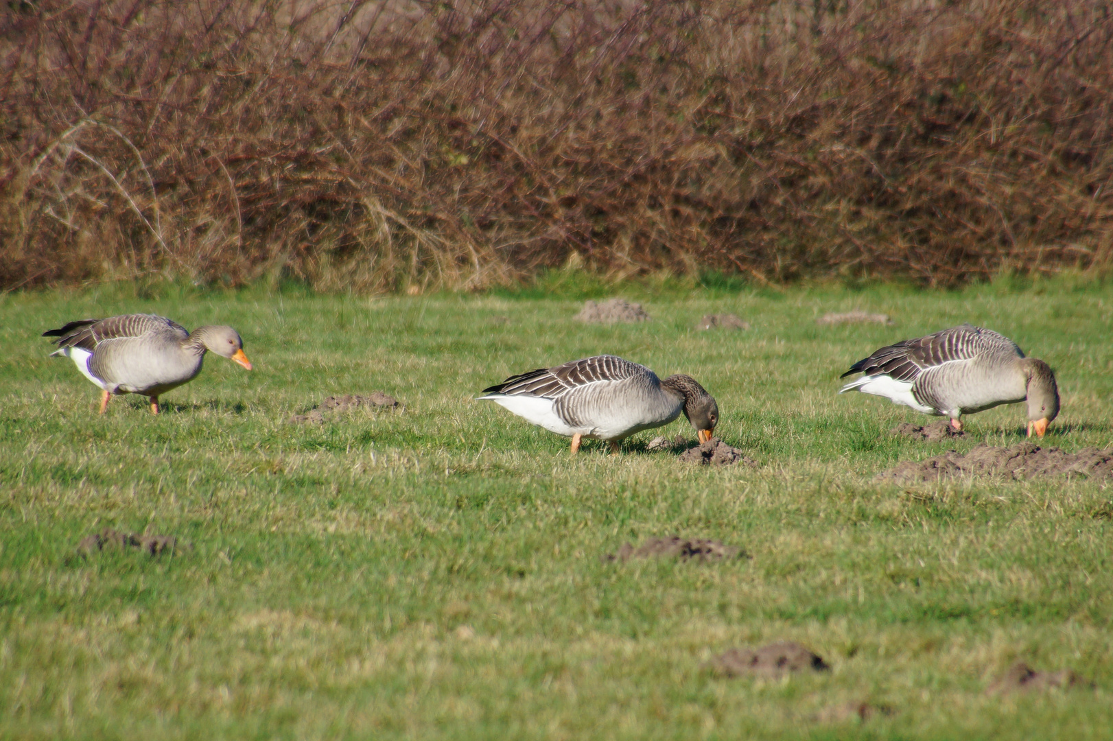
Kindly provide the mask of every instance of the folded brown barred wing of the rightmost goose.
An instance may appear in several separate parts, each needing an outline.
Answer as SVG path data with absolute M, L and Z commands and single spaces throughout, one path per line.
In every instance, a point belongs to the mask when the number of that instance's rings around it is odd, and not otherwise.
M 1024 357 L 1021 348 L 1008 337 L 992 329 L 964 324 L 926 337 L 905 339 L 881 347 L 869 357 L 855 363 L 840 377 L 864 373 L 867 376 L 881 375 L 913 383 L 929 368 L 987 355 Z

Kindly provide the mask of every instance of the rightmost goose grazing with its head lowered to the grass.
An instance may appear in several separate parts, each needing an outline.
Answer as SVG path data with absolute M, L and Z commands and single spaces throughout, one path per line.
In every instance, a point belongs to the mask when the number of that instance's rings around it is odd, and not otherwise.
M 905 339 L 858 360 L 840 377 L 865 375 L 839 393 L 860 391 L 951 417 L 962 431 L 964 414 L 1001 404 L 1028 403 L 1028 437 L 1043 437 L 1058 415 L 1055 374 L 1043 360 L 1025 357 L 1008 337 L 969 324 Z

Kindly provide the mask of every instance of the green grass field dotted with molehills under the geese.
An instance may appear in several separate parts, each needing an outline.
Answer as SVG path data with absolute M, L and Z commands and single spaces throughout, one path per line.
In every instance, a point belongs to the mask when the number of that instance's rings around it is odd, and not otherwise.
M 961 293 L 628 286 L 652 322 L 584 326 L 582 296 L 0 297 L 0 737 L 19 739 L 1100 739 L 1113 728 L 1110 484 L 883 486 L 898 461 L 1023 439 L 1022 406 L 957 443 L 836 395 L 883 344 L 973 322 L 1055 367 L 1045 444 L 1113 444 L 1113 294 L 1067 281 Z M 896 326 L 817 326 L 826 312 Z M 99 389 L 39 335 L 128 312 L 232 324 L 255 364 L 209 356 L 164 398 Z M 697 332 L 731 312 L 748 332 Z M 613 353 L 690 373 L 758 468 L 621 456 L 472 401 L 529 368 Z M 333 394 L 401 413 L 294 425 Z M 680 421 L 664 428 L 695 439 Z M 174 556 L 77 542 L 114 526 Z M 750 560 L 603 563 L 623 542 L 715 537 Z M 720 679 L 715 654 L 799 641 L 831 665 Z M 1017 659 L 1095 683 L 987 695 Z M 850 701 L 893 709 L 824 721 Z

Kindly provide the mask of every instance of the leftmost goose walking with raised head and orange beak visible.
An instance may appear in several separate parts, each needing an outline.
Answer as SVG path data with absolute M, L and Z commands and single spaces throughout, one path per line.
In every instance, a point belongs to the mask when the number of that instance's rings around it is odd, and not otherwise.
M 42 333 L 57 337 L 51 357 L 65 356 L 101 388 L 100 414 L 114 395 L 142 394 L 158 414 L 158 397 L 201 370 L 205 352 L 252 369 L 244 342 L 232 327 L 185 327 L 152 314 L 126 314 L 107 319 L 80 319 Z

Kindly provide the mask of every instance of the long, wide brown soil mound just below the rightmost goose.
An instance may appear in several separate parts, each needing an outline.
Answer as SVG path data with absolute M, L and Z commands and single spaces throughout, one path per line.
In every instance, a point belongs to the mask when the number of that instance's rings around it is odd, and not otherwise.
M 1113 452 L 1087 447 L 1064 453 L 1057 447 L 1018 443 L 1011 447 L 978 445 L 966 455 L 947 451 L 926 461 L 905 461 L 883 473 L 877 481 L 899 484 L 934 482 L 947 476 L 1006 476 L 1014 480 L 1066 474 L 1104 478 L 1113 474 Z

